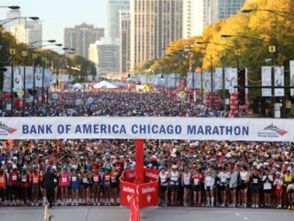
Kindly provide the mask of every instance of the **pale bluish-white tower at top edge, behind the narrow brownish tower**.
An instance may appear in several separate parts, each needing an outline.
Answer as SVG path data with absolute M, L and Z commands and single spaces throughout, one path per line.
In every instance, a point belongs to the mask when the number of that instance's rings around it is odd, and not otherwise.
M 129 10 L 129 0 L 108 0 L 107 23 L 108 36 L 110 38 L 120 37 L 120 10 Z

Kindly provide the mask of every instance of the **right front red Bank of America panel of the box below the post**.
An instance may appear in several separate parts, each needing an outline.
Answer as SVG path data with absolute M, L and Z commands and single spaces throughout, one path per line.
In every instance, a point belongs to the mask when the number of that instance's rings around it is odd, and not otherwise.
M 138 186 L 139 208 L 156 206 L 159 201 L 159 183 L 144 183 Z

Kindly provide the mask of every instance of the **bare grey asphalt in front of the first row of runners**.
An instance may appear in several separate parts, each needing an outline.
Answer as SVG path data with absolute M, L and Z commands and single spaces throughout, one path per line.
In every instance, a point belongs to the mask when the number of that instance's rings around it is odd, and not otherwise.
M 42 221 L 43 207 L 0 208 L 1 221 Z M 54 207 L 49 210 L 52 221 L 128 221 L 127 207 Z M 290 221 L 294 210 L 151 207 L 141 210 L 141 221 Z

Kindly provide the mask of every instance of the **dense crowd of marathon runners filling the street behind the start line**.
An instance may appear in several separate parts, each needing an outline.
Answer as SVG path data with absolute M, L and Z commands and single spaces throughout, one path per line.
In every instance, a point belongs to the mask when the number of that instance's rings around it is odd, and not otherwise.
M 26 116 L 227 117 L 151 93 L 69 93 L 27 108 Z M 77 101 L 79 100 L 79 101 Z M 21 110 L 19 110 L 21 112 Z M 0 205 L 120 205 L 120 175 L 135 168 L 133 140 L 1 141 Z M 254 141 L 145 140 L 144 166 L 159 171 L 159 205 L 294 210 L 294 144 Z

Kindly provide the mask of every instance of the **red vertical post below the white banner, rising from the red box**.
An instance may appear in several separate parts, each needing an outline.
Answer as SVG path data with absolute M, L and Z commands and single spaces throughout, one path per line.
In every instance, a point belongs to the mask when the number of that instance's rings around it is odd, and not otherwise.
M 143 184 L 143 139 L 135 140 L 135 183 L 137 185 Z

